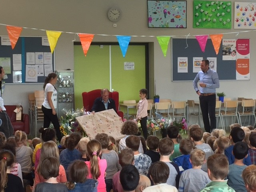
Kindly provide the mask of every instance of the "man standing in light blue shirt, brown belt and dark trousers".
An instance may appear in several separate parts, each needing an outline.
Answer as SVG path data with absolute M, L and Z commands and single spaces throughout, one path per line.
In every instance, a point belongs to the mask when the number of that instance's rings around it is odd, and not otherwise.
M 216 88 L 220 87 L 220 83 L 217 72 L 209 68 L 209 60 L 203 59 L 200 62 L 200 67 L 202 71 L 198 72 L 194 78 L 193 86 L 194 90 L 199 95 L 204 129 L 206 132 L 210 133 L 213 129 L 216 129 Z M 199 89 L 197 86 L 198 81 L 200 81 Z

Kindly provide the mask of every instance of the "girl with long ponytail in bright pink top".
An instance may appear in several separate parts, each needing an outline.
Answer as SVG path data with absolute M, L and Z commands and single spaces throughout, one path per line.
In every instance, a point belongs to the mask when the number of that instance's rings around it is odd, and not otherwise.
M 102 152 L 100 142 L 95 139 L 90 140 L 87 144 L 87 152 L 90 156 L 90 161 L 85 162 L 89 172 L 87 178 L 98 180 L 98 192 L 106 192 L 105 172 L 107 161 L 99 158 Z

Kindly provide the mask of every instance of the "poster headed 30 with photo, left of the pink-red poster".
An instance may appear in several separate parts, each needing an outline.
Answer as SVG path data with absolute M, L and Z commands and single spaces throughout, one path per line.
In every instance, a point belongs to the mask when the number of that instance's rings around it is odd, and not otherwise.
M 236 39 L 222 39 L 222 60 L 236 60 Z

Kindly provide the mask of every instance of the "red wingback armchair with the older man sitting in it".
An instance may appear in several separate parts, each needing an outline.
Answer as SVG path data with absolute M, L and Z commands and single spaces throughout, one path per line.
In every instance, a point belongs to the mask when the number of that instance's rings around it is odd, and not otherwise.
M 92 109 L 94 100 L 97 97 L 101 97 L 100 89 L 92 90 L 90 92 L 82 92 L 84 109 L 86 111 L 90 111 Z M 109 92 L 109 98 L 112 98 L 115 101 L 117 114 L 123 119 L 124 113 L 122 111 L 119 111 L 119 93 L 117 91 Z

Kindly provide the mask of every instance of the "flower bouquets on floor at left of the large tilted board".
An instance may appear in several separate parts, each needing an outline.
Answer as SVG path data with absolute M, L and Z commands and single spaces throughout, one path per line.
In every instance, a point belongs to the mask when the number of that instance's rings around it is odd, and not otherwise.
M 61 116 L 60 118 L 60 132 L 62 135 L 67 135 L 73 132 L 80 133 L 83 137 L 86 136 L 84 130 L 78 125 L 76 117 L 86 115 L 84 110 L 77 109 L 76 111 L 72 110 L 62 110 L 65 113 L 65 117 Z

